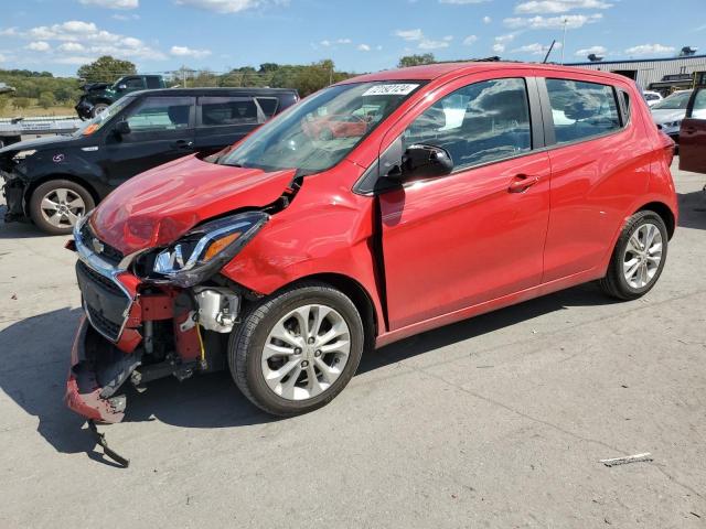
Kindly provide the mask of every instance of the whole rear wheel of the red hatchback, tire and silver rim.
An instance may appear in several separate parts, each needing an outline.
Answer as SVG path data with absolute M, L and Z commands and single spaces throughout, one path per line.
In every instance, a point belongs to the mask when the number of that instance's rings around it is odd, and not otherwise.
M 620 300 L 646 294 L 657 282 L 667 251 L 667 231 L 654 212 L 635 213 L 623 228 L 613 250 L 602 290 Z

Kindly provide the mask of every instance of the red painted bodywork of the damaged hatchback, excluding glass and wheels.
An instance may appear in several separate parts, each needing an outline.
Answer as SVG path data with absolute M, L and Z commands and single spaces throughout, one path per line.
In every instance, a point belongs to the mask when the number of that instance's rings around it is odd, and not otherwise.
M 552 144 L 377 196 L 353 192 L 421 111 L 462 86 L 499 77 L 612 85 L 629 94 L 631 118 L 620 131 L 574 144 Z M 671 230 L 676 225 L 673 145 L 650 125 L 630 80 L 556 66 L 470 63 L 382 72 L 343 84 L 425 79 L 343 161 L 304 176 L 291 203 L 221 273 L 260 295 L 311 277 L 352 282 L 371 302 L 375 343 L 382 346 L 603 277 L 625 220 L 646 205 L 665 215 Z M 274 203 L 295 176 L 295 170 L 265 173 L 188 156 L 120 186 L 98 206 L 92 226 L 124 253 L 163 246 L 214 216 Z M 509 192 L 522 179 L 533 185 Z M 139 280 L 120 281 L 136 292 L 139 311 L 127 328 L 138 333 L 139 320 L 149 320 Z M 132 350 L 139 333 L 126 339 L 118 346 Z M 68 400 L 90 417 L 76 397 Z

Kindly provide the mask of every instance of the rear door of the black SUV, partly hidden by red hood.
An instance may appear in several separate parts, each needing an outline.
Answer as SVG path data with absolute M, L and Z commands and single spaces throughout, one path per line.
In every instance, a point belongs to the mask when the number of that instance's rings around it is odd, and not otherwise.
M 204 153 L 220 151 L 242 140 L 265 120 L 265 114 L 253 97 L 199 97 L 195 148 Z

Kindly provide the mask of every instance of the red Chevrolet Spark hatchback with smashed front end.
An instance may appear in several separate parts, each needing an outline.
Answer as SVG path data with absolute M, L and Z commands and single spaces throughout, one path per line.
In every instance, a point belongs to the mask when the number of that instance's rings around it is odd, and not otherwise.
M 311 133 L 327 117 L 363 125 Z M 339 83 L 82 219 L 68 406 L 116 422 L 126 386 L 229 369 L 291 415 L 406 336 L 592 280 L 639 298 L 676 226 L 672 155 L 635 85 L 602 72 L 464 63 Z

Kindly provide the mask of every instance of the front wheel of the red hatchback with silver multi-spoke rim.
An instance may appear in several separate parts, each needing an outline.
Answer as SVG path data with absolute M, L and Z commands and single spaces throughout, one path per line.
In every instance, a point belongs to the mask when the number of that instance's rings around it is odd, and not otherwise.
M 252 307 L 231 335 L 235 384 L 256 406 L 281 417 L 330 402 L 363 354 L 364 330 L 353 302 L 324 283 L 302 283 Z

